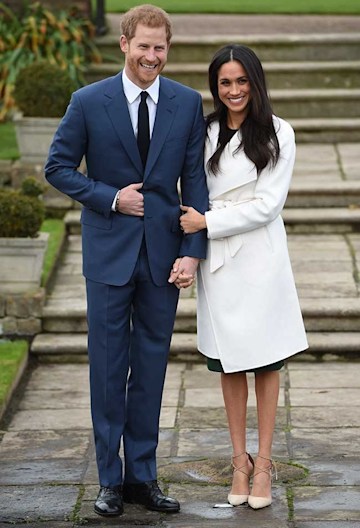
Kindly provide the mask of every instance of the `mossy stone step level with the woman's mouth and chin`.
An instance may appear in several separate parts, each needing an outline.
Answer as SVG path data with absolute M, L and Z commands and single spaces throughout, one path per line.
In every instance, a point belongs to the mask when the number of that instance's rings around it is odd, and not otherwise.
M 205 113 L 213 109 L 208 90 L 200 91 Z M 284 119 L 359 118 L 359 89 L 270 90 L 275 114 Z

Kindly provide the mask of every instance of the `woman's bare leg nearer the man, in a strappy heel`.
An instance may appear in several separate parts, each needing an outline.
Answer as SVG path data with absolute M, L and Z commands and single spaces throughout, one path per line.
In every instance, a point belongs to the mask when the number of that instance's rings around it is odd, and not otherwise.
M 249 478 L 253 466 L 246 454 L 246 406 L 248 385 L 246 374 L 221 374 L 221 385 L 233 447 L 234 471 L 230 495 L 249 495 Z M 240 502 L 241 503 L 241 502 Z

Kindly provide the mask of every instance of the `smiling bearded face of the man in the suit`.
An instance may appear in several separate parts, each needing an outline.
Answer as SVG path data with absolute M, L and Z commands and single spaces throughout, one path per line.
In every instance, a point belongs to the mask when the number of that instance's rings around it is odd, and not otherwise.
M 145 90 L 154 82 L 167 61 L 169 44 L 165 26 L 151 28 L 138 24 L 130 41 L 121 35 L 120 48 L 125 54 L 126 75 Z

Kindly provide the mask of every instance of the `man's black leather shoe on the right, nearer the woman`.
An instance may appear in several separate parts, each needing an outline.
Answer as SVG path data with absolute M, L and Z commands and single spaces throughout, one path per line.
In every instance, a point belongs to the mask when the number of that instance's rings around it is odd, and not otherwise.
M 143 504 L 148 510 L 164 513 L 176 513 L 180 504 L 171 497 L 166 497 L 156 480 L 141 482 L 140 484 L 124 484 L 124 502 Z

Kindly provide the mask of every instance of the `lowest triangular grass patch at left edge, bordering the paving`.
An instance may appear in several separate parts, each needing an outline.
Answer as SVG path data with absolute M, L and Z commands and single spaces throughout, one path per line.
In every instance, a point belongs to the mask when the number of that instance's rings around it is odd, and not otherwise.
M 0 408 L 6 401 L 28 348 L 26 341 L 0 341 Z

